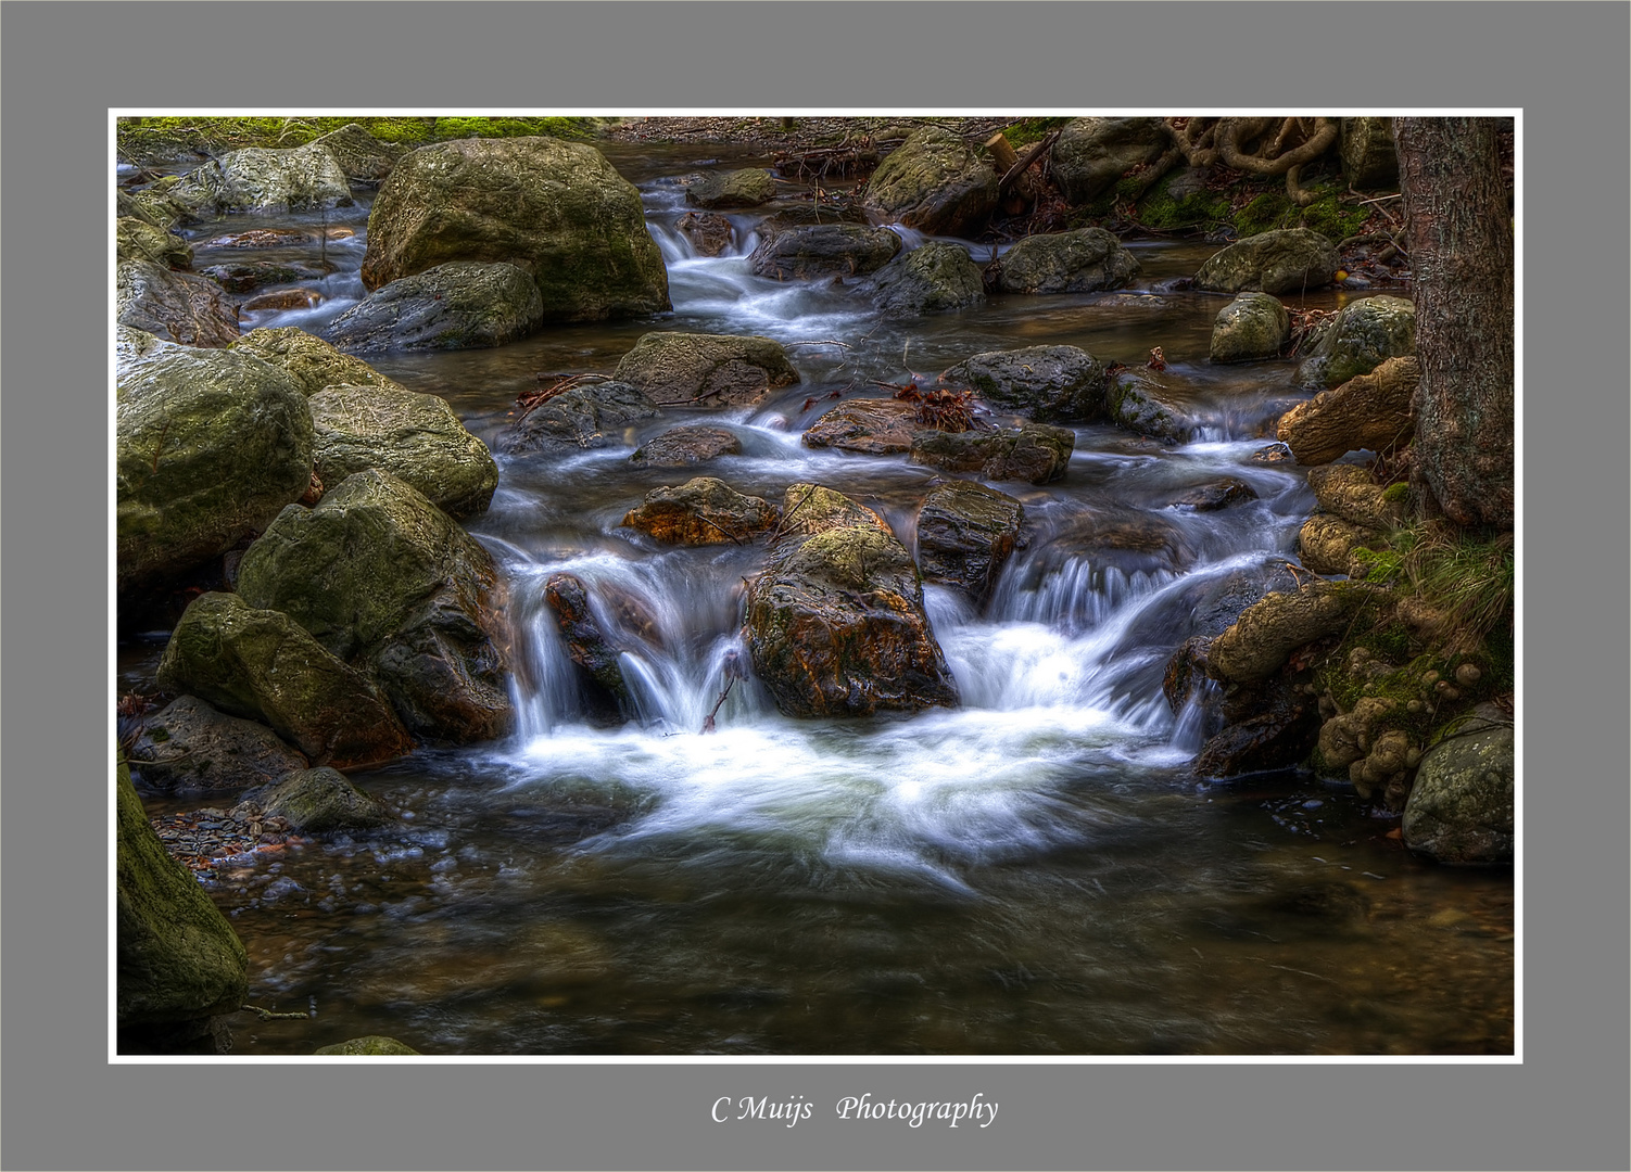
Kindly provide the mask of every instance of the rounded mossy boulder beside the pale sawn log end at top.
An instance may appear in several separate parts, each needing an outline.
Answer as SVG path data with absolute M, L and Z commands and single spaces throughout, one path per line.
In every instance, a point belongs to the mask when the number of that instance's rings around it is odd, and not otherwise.
M 931 236 L 972 236 L 997 207 L 997 179 L 990 161 L 959 135 L 925 126 L 877 165 L 863 207 Z

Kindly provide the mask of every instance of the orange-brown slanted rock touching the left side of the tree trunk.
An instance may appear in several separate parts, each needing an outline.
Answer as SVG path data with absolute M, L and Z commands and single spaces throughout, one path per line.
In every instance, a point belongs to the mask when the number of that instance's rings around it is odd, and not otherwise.
M 1421 381 L 1416 359 L 1388 359 L 1284 416 L 1277 435 L 1298 463 L 1326 465 L 1349 452 L 1388 452 L 1416 434 L 1411 401 Z

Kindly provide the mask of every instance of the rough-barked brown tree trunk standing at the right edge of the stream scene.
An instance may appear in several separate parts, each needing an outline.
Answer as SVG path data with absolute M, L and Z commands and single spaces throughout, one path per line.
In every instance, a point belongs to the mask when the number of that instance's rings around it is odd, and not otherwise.
M 1491 117 L 1395 119 L 1421 360 L 1412 481 L 1456 525 L 1510 530 L 1514 241 L 1499 129 Z

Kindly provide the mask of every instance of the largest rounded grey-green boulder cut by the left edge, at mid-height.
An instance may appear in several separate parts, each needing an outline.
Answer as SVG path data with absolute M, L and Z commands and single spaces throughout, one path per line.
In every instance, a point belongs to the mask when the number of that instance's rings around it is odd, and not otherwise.
M 312 412 L 246 354 L 155 347 L 116 411 L 117 588 L 157 585 L 261 531 L 312 482 Z

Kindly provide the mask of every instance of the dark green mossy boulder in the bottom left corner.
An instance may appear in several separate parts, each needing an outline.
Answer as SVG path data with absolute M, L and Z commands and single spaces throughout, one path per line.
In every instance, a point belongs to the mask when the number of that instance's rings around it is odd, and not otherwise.
M 121 1029 L 233 1014 L 250 955 L 192 874 L 170 857 L 121 761 L 114 779 L 114 1004 Z

